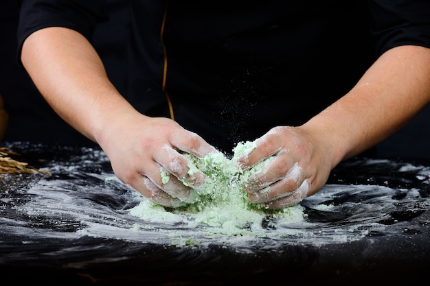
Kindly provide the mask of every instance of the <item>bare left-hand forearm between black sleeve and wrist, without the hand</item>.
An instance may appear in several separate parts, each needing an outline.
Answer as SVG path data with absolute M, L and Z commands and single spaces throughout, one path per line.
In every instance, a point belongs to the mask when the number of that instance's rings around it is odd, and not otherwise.
M 106 124 L 134 111 L 107 78 L 91 44 L 71 29 L 34 32 L 23 44 L 21 59 L 58 115 L 93 141 Z

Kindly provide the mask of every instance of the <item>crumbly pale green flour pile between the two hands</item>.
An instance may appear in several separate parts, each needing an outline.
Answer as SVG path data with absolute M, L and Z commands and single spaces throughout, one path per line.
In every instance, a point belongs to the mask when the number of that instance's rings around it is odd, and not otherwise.
M 255 143 L 238 143 L 231 159 L 222 153 L 210 154 L 205 158 L 184 154 L 209 178 L 203 186 L 194 189 L 194 203 L 180 208 L 166 208 L 144 198 L 131 209 L 131 215 L 148 222 L 183 223 L 190 228 L 204 227 L 208 235 L 227 237 L 264 237 L 265 231 L 274 228 L 275 222 L 302 222 L 305 215 L 299 204 L 281 210 L 269 210 L 264 204 L 254 204 L 247 199 L 247 193 L 241 186 L 249 176 L 260 171 L 271 160 L 267 158 L 253 168 L 242 171 L 238 167 L 237 158 L 248 154 L 254 147 Z M 190 168 L 190 172 L 193 171 Z M 183 183 L 187 184 L 185 181 Z M 185 244 L 190 241 L 192 239 L 188 239 Z

